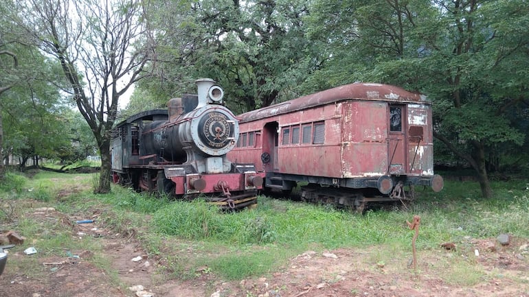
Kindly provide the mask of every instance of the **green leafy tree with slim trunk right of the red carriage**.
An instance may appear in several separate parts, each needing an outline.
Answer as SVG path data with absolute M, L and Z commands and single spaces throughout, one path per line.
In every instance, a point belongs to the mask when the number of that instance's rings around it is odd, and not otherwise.
M 528 79 L 528 5 L 434 2 L 346 1 L 326 12 L 314 9 L 309 31 L 323 32 L 326 25 L 319 24 L 330 23 L 331 34 L 315 34 L 330 58 L 312 80 L 337 73 L 331 84 L 340 78 L 385 82 L 429 95 L 434 135 L 475 169 L 482 195 L 491 197 L 488 150 L 524 138 L 510 111 L 527 97 L 521 80 Z M 352 54 L 341 50 L 346 47 Z

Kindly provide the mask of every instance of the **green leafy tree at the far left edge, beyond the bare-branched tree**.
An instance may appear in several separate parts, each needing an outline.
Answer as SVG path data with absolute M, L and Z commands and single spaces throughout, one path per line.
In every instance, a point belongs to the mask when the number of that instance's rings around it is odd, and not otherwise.
M 2 154 L 14 153 L 24 160 L 53 155 L 63 143 L 59 131 L 64 130 L 56 120 L 65 103 L 57 88 L 62 83 L 56 75 L 58 64 L 43 56 L 21 32 L 14 3 L 3 1 L 0 11 L 6 16 L 0 21 Z M 1 160 L 3 167 L 3 156 Z

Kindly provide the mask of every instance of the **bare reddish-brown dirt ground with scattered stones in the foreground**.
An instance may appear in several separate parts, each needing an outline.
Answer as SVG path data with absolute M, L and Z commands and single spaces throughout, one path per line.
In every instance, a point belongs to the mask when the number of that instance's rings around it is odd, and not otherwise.
M 34 219 L 60 218 L 71 224 L 82 217 L 67 216 L 54 209 L 34 209 L 27 213 Z M 418 252 L 418 268 L 407 268 L 408 259 L 386 263 L 368 261 L 372 249 L 306 251 L 290 259 L 284 268 L 260 278 L 223 281 L 207 267 L 188 281 L 164 281 L 159 259 L 151 259 L 139 248 L 134 236 L 123 236 L 98 224 L 71 224 L 71 235 L 91 237 L 104 246 L 104 259 L 116 274 L 106 274 L 98 267 L 90 250 L 71 250 L 65 257 L 27 255 L 23 248 L 12 248 L 8 264 L 0 276 L 0 296 L 29 297 L 315 297 L 315 296 L 505 296 L 529 297 L 529 248 L 526 241 L 512 239 L 500 246 L 496 239 L 473 240 L 469 244 L 482 251 L 476 257 L 476 269 L 486 277 L 477 285 L 449 285 L 437 269 L 451 257 L 462 257 L 458 250 Z M 31 239 L 28 239 L 32 242 Z M 491 250 L 491 245 L 494 250 Z M 26 247 L 27 244 L 24 245 Z M 71 257 L 69 257 L 71 256 Z M 41 271 L 15 274 L 12 268 L 23 258 L 33 257 Z M 134 258 L 137 258 L 133 261 Z M 100 259 L 100 258 L 99 258 Z M 443 268 L 447 271 L 447 268 Z M 120 286 L 120 283 L 126 284 Z M 141 285 L 141 287 L 132 287 Z M 131 288 L 128 288 L 131 287 Z

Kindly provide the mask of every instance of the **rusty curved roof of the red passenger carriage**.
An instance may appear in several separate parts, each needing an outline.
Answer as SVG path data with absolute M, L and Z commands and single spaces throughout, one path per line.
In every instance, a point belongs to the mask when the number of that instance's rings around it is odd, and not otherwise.
M 389 84 L 354 83 L 329 88 L 325 91 L 245 112 L 242 115 L 239 115 L 238 119 L 244 123 L 344 100 L 431 104 L 425 95 L 418 92 L 406 91 L 399 86 L 392 86 Z

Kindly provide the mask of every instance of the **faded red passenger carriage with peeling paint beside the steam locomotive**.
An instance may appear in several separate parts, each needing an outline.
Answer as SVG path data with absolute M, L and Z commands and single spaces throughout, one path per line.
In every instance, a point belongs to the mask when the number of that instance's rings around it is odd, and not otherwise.
M 261 163 L 265 189 L 362 210 L 443 187 L 434 174 L 431 103 L 385 84 L 355 83 L 239 115 L 236 163 Z

